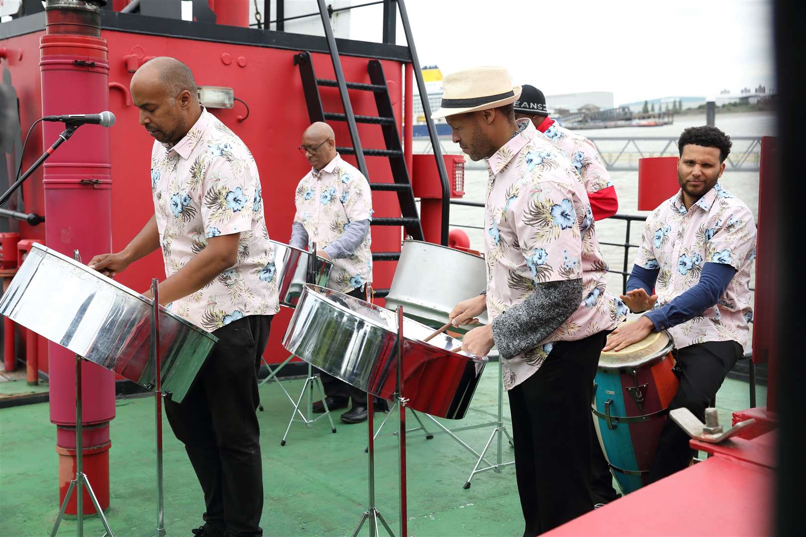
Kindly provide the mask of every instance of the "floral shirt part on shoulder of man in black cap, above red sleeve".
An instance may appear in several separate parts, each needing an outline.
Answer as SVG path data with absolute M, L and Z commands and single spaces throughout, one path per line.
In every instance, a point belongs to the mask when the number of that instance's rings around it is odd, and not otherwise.
M 545 130 L 542 130 L 544 126 Z M 596 151 L 596 146 L 588 138 L 559 126 L 551 118 L 546 118 L 538 130 L 542 130 L 543 136 L 549 138 L 571 160 L 571 164 L 582 176 L 585 190 L 589 194 L 613 186 L 610 174 L 599 158 L 599 151 Z

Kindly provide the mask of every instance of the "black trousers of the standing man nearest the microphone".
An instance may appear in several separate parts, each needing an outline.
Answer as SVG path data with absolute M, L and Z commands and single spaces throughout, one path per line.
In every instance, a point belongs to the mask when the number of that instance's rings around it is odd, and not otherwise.
M 182 403 L 165 401 L 173 433 L 202 485 L 206 527 L 223 535 L 263 535 L 263 472 L 257 370 L 272 316 L 247 316 L 218 337 Z

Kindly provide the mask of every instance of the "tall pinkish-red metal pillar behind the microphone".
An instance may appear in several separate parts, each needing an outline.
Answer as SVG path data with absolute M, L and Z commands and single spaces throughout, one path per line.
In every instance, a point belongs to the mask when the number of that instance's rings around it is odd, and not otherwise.
M 42 114 L 93 114 L 109 108 L 109 61 L 101 37 L 99 0 L 48 0 L 46 32 L 39 41 L 42 73 Z M 44 147 L 64 130 L 60 123 L 43 124 Z M 81 126 L 44 164 L 45 240 L 73 257 L 79 250 L 88 262 L 112 249 L 109 130 Z M 43 305 L 46 307 L 45 305 Z M 48 344 L 50 417 L 56 423 L 59 457 L 59 504 L 76 476 L 75 357 Z M 114 374 L 92 363 L 81 365 L 83 391 L 84 472 L 102 509 L 109 506 L 109 422 L 114 418 Z M 95 508 L 85 489 L 84 512 Z M 76 514 L 76 497 L 67 513 Z

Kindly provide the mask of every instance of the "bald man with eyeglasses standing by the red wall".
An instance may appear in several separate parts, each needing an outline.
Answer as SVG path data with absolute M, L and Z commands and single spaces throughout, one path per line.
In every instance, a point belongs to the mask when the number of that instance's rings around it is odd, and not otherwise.
M 297 214 L 289 244 L 306 250 L 316 242 L 318 254 L 333 262 L 329 287 L 366 299 L 367 286 L 372 283 L 369 183 L 360 171 L 342 160 L 336 151 L 333 129 L 327 123 L 315 122 L 305 129 L 299 150 L 311 169 L 297 185 Z M 368 415 L 367 394 L 324 371 L 320 374 L 328 410 L 346 408 L 352 399 L 351 410 L 341 416 L 342 421 L 364 422 Z M 376 411 L 384 407 L 380 400 L 378 403 Z M 324 412 L 322 401 L 314 403 L 313 410 Z

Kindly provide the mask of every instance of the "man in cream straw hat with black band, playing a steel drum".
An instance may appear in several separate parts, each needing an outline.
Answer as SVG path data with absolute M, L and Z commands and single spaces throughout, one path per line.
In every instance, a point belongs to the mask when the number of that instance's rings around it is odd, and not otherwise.
M 605 337 L 626 316 L 607 292 L 607 265 L 578 171 L 526 119 L 504 68 L 445 77 L 453 141 L 488 166 L 484 207 L 487 289 L 456 305 L 454 324 L 484 310 L 463 350 L 501 354 L 526 527 L 538 535 L 592 510 L 591 392 Z

